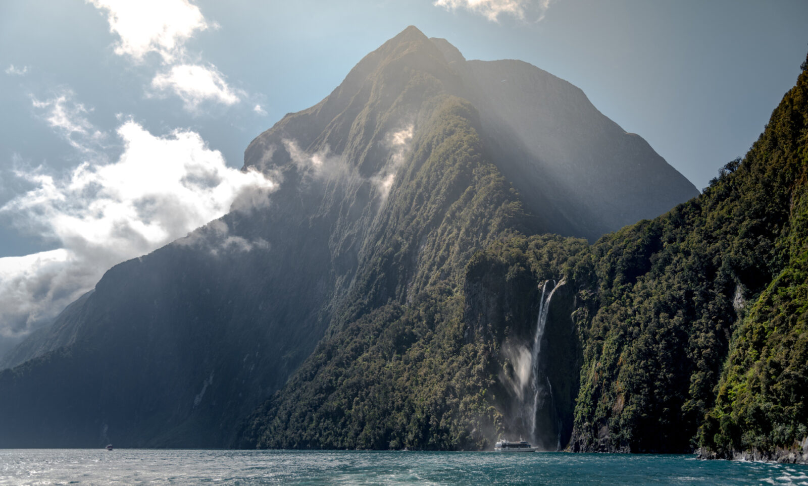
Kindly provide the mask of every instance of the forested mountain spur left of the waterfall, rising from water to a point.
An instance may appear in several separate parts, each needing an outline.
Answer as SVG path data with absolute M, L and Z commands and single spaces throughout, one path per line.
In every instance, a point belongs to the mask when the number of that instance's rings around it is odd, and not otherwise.
M 495 323 L 496 336 L 469 338 L 475 330 L 468 329 L 466 300 L 485 298 L 469 295 L 473 283 L 503 261 L 499 281 L 511 283 L 513 295 L 532 289 L 535 297 L 539 262 L 547 264 L 541 277 L 549 279 L 570 250 L 553 243 L 561 238 L 536 237 L 531 257 L 526 248 L 503 254 L 495 242 L 536 218 L 524 213 L 486 160 L 477 125 L 468 103 L 448 98 L 439 105 L 391 189 L 389 220 L 372 239 L 378 244 L 355 287 L 364 298 L 348 300 L 346 316 L 335 321 L 345 324 L 335 324 L 287 385 L 250 417 L 242 445 L 480 449 L 503 429 L 493 406 L 505 395 L 494 337 L 510 333 L 514 322 Z M 534 303 L 513 309 L 519 315 L 511 320 L 528 324 Z

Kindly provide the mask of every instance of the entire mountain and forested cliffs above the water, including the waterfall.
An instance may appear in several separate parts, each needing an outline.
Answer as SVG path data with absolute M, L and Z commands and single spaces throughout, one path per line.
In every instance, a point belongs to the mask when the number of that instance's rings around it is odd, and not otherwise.
M 250 144 L 276 191 L 10 354 L 0 446 L 803 460 L 806 78 L 698 195 L 569 83 L 408 27 Z

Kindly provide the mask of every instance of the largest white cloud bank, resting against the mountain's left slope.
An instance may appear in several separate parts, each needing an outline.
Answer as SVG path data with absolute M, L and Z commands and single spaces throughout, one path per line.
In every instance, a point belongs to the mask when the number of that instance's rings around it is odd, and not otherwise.
M 90 290 L 109 267 L 185 236 L 240 198 L 266 203 L 275 187 L 254 170 L 229 168 L 196 132 L 154 136 L 129 120 L 117 134 L 124 143 L 117 161 L 86 161 L 61 179 L 41 170 L 16 173 L 35 187 L 0 212 L 61 248 L 0 258 L 0 336 L 30 332 Z M 262 245 L 223 238 L 222 249 Z

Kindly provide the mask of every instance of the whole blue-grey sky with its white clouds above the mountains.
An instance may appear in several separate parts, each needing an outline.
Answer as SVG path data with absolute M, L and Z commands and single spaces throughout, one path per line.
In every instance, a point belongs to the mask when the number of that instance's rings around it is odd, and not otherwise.
M 696 187 L 808 51 L 808 2 L 4 0 L 0 353 L 103 272 L 276 182 L 244 149 L 408 25 L 579 86 Z

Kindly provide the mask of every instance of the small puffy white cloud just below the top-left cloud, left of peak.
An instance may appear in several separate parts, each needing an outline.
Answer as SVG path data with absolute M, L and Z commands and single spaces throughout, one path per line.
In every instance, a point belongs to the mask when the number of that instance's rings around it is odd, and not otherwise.
M 238 103 L 238 90 L 233 90 L 214 67 L 175 65 L 166 73 L 158 73 L 152 80 L 157 90 L 172 90 L 185 102 L 188 111 L 196 111 L 200 103 L 215 101 L 225 105 Z

